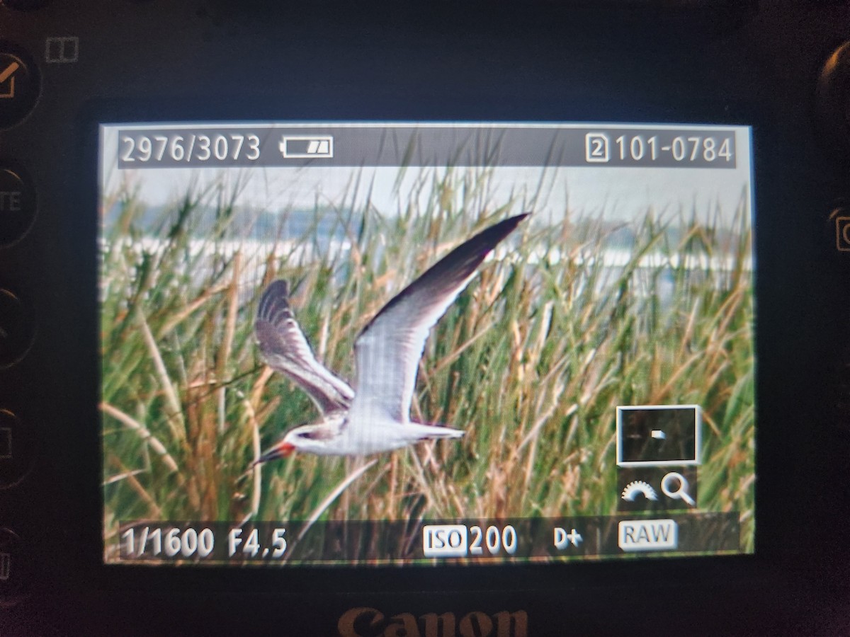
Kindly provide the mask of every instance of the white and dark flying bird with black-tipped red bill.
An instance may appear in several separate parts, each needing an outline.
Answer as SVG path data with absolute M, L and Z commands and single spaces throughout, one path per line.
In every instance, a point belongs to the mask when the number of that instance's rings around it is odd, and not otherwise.
M 463 431 L 411 420 L 416 374 L 428 334 L 475 276 L 479 265 L 528 213 L 484 229 L 450 251 L 394 296 L 354 341 L 354 388 L 314 356 L 289 305 L 289 287 L 263 291 L 254 324 L 263 361 L 307 392 L 321 417 L 297 426 L 254 465 L 300 451 L 365 456 L 423 440 L 460 438 Z

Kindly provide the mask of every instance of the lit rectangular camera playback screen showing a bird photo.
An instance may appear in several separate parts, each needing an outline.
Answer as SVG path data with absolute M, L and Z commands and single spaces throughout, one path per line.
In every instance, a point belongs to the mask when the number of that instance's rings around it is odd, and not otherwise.
M 99 129 L 104 561 L 751 553 L 751 129 Z

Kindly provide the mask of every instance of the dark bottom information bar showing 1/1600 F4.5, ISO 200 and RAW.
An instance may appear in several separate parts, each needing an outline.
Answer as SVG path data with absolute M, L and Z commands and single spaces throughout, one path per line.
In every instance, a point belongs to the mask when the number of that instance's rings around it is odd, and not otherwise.
M 740 550 L 737 512 L 505 520 L 123 522 L 121 561 L 193 564 L 392 563 L 428 559 L 506 561 Z

